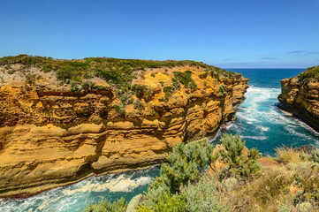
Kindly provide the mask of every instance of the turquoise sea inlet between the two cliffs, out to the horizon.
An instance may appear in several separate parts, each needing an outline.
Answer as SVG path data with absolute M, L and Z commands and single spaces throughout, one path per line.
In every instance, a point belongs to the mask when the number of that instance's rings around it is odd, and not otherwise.
M 239 105 L 237 120 L 221 132 L 216 141 L 224 133 L 239 133 L 246 140 L 247 148 L 258 148 L 263 155 L 273 155 L 275 148 L 283 145 L 300 147 L 313 145 L 319 147 L 319 133 L 292 117 L 291 114 L 279 110 L 277 96 L 281 92 L 280 79 L 298 75 L 303 69 L 232 69 L 240 72 L 249 80 L 246 100 Z

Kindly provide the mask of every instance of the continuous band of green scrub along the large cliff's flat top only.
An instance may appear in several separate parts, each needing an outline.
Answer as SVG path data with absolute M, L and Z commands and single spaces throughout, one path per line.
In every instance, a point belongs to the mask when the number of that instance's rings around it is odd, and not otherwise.
M 134 76 L 134 71 L 148 68 L 196 66 L 207 69 L 207 72 L 224 74 L 232 77 L 232 72 L 226 72 L 212 65 L 203 64 L 190 60 L 139 60 L 139 59 L 118 59 L 110 57 L 87 57 L 80 60 L 53 59 L 51 57 L 32 57 L 19 55 L 15 57 L 0 58 L 0 65 L 10 66 L 11 64 L 24 64 L 41 68 L 42 72 L 56 72 L 57 79 L 81 81 L 94 76 L 101 77 L 113 86 L 123 87 L 129 84 Z

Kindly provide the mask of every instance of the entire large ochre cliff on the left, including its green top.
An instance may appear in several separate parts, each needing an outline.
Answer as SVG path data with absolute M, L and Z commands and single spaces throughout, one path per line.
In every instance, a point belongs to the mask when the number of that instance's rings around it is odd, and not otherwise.
M 232 120 L 248 79 L 194 61 L 0 58 L 0 196 L 161 163 Z

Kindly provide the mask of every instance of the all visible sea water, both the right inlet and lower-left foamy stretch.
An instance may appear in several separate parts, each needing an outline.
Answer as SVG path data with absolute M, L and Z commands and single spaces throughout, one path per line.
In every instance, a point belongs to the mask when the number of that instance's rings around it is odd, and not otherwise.
M 273 155 L 274 149 L 313 145 L 319 147 L 316 133 L 300 119 L 277 108 L 280 79 L 298 75 L 303 69 L 229 69 L 242 73 L 249 80 L 246 100 L 239 105 L 236 121 L 227 131 L 218 133 L 212 142 L 218 142 L 224 133 L 239 133 L 247 148 L 258 148 L 263 155 Z M 0 200 L 0 211 L 78 211 L 89 202 L 124 196 L 130 201 L 134 195 L 147 190 L 152 178 L 159 175 L 158 167 L 127 171 L 102 177 L 90 177 L 71 186 L 59 187 L 23 200 Z

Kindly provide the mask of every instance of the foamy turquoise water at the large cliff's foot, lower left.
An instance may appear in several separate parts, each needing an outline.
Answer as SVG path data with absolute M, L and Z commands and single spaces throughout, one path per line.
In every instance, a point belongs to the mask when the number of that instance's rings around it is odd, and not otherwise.
M 121 196 L 131 200 L 143 193 L 152 178 L 159 176 L 158 167 L 146 170 L 126 171 L 101 177 L 90 177 L 71 186 L 59 187 L 22 200 L 0 200 L 2 212 L 34 211 L 78 211 L 92 202 L 108 199 L 114 201 Z

